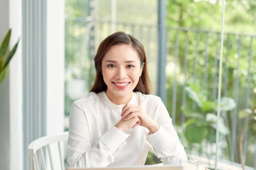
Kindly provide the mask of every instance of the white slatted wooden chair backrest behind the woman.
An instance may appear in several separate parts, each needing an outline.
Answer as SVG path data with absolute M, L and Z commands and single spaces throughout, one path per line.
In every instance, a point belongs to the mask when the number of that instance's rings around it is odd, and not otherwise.
M 61 150 L 61 142 L 67 141 L 68 139 L 68 132 L 55 135 L 55 136 L 43 136 L 40 137 L 34 141 L 32 141 L 28 145 L 28 154 L 31 159 L 31 170 L 39 170 L 39 165 L 41 165 L 42 170 L 46 170 L 46 153 L 43 153 L 43 148 L 45 148 L 45 151 L 48 153 L 49 160 L 50 160 L 50 166 L 51 169 L 54 169 L 53 165 L 53 160 L 55 159 L 52 154 L 52 149 L 51 149 L 51 144 L 58 144 L 58 147 L 56 145 L 57 150 L 59 151 L 59 161 L 60 161 L 60 167 L 61 170 L 64 170 L 64 159 L 63 159 L 63 154 Z M 51 146 L 50 146 L 51 145 Z M 55 148 L 54 148 L 55 149 Z M 38 153 L 40 157 L 40 164 L 39 164 L 39 159 L 38 159 Z

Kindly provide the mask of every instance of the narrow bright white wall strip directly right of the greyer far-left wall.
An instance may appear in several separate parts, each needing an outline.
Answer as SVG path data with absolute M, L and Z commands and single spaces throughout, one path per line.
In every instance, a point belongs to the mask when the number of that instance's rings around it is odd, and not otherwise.
M 21 0 L 9 0 L 9 27 L 12 28 L 10 46 L 20 38 L 15 56 L 10 62 L 10 170 L 23 167 L 22 129 L 22 36 Z

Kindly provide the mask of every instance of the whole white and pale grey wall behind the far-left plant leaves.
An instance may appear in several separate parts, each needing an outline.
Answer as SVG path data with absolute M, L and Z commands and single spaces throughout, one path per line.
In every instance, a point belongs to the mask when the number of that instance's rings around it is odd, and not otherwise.
M 12 28 L 10 47 L 21 34 L 21 0 L 0 0 L 0 40 Z M 22 103 L 20 46 L 0 84 L 0 170 L 22 168 Z

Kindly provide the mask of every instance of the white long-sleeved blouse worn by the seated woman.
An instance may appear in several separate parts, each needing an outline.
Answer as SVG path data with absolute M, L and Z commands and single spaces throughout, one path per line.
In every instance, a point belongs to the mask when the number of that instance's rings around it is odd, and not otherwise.
M 112 103 L 104 91 L 90 92 L 70 109 L 67 162 L 71 167 L 144 165 L 149 147 L 164 164 L 178 164 L 186 157 L 183 145 L 161 99 L 133 92 L 129 103 L 140 105 L 160 128 L 136 126 L 125 133 L 115 125 L 121 119 L 122 105 Z

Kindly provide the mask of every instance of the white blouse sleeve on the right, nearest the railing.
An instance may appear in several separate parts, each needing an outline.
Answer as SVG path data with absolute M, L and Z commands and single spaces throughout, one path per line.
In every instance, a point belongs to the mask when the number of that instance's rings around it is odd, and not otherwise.
M 160 125 L 157 132 L 146 135 L 155 154 L 164 164 L 178 164 L 180 158 L 186 159 L 183 145 L 180 143 L 167 109 L 163 102 L 158 100 L 156 122 Z

